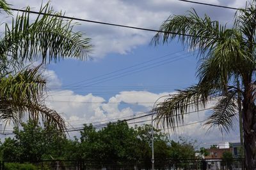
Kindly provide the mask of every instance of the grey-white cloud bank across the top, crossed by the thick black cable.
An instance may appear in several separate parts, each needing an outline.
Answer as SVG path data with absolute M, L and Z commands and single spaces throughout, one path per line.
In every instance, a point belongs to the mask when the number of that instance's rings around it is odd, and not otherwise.
M 43 1 L 46 3 L 47 1 Z M 211 0 L 207 3 L 244 7 L 245 0 L 230 1 Z M 41 1 L 9 1 L 14 8 L 31 6 L 32 10 L 38 10 Z M 181 1 L 150 0 L 150 1 L 92 1 L 77 0 L 76 3 L 67 0 L 55 0 L 51 2 L 54 10 L 65 11 L 70 17 L 111 22 L 115 24 L 132 25 L 149 29 L 159 29 L 159 25 L 169 15 L 184 15 L 186 11 L 195 8 L 199 15 L 209 14 L 213 19 L 232 23 L 234 10 L 216 8 L 200 4 L 185 3 Z M 95 59 L 104 57 L 108 53 L 125 54 L 140 45 L 147 45 L 154 35 L 152 32 L 132 30 L 109 25 L 79 22 L 77 30 L 86 32 L 92 38 L 95 45 Z

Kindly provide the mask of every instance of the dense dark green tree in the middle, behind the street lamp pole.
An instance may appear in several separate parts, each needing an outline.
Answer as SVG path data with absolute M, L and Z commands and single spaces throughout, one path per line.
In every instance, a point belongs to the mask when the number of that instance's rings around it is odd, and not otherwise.
M 151 125 L 129 127 L 126 122 L 108 124 L 96 131 L 92 125 L 84 125 L 81 131 L 81 158 L 91 160 L 112 160 L 113 164 L 129 161 L 138 162 L 150 168 L 152 157 Z M 154 152 L 158 163 L 170 158 L 168 136 L 154 129 Z

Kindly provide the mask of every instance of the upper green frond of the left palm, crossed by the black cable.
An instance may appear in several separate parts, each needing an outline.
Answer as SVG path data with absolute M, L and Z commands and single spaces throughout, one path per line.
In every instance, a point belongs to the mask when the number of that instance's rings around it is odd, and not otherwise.
M 92 51 L 90 38 L 84 38 L 81 32 L 73 32 L 74 24 L 54 13 L 49 4 L 41 7 L 40 13 L 31 23 L 29 7 L 22 15 L 13 19 L 12 27 L 6 24 L 4 47 L 1 49 L 5 55 L 12 56 L 13 61 L 20 63 L 42 57 L 42 62 L 55 62 L 65 57 L 86 59 Z M 48 61 L 47 61 L 48 59 Z

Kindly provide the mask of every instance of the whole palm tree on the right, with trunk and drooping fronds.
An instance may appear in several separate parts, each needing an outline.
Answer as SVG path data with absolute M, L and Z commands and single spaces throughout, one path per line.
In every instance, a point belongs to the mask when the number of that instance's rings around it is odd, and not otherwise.
M 170 16 L 152 39 L 157 45 L 178 38 L 190 50 L 198 50 L 200 63 L 196 85 L 178 90 L 153 109 L 161 124 L 175 131 L 191 108 L 199 110 L 217 100 L 205 125 L 228 132 L 236 122 L 237 99 L 241 96 L 247 169 L 256 169 L 255 3 L 253 0 L 245 9 L 237 11 L 231 28 L 212 21 L 207 15 L 199 17 L 195 10 L 185 16 Z

